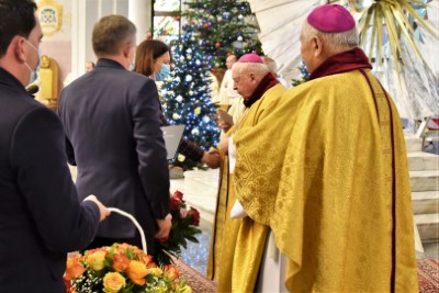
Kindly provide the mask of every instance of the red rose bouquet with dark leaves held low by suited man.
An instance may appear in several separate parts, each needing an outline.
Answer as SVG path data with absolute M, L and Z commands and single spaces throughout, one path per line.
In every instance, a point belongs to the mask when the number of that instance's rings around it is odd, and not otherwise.
M 161 243 L 161 249 L 157 253 L 157 262 L 160 266 L 172 263 L 172 257 L 181 256 L 181 248 L 187 248 L 188 240 L 199 243 L 195 238 L 201 230 L 200 213 L 196 209 L 190 207 L 187 210 L 183 193 L 176 191 L 170 196 L 170 213 L 172 215 L 172 228 L 169 233 L 169 238 Z

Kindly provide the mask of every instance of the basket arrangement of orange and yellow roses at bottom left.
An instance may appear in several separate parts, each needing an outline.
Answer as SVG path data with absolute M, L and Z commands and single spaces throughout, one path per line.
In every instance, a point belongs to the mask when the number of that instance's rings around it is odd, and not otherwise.
M 151 256 L 127 244 L 68 258 L 64 280 L 68 293 L 192 292 L 172 264 L 160 269 Z

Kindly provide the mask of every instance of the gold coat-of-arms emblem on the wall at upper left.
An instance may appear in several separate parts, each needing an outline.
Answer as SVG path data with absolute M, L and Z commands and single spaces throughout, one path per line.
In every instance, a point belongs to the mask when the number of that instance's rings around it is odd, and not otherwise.
M 63 26 L 63 5 L 56 0 L 40 0 L 36 4 L 43 34 L 45 36 L 54 35 Z

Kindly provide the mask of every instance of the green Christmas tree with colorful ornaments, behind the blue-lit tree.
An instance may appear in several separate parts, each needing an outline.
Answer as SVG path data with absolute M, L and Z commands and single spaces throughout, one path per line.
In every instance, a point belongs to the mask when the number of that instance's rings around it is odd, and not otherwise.
M 246 1 L 194 0 L 187 2 L 188 18 L 200 32 L 200 45 L 213 67 L 225 67 L 228 55 L 262 54 L 255 14 Z

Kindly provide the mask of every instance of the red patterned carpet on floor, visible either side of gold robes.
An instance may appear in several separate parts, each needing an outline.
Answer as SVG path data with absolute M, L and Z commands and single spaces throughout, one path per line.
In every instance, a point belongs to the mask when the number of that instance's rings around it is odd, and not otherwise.
M 196 270 L 180 260 L 176 261 L 176 266 L 194 293 L 216 292 L 216 284 L 206 280 L 205 277 Z M 418 281 L 419 293 L 439 292 L 439 259 L 418 260 Z

